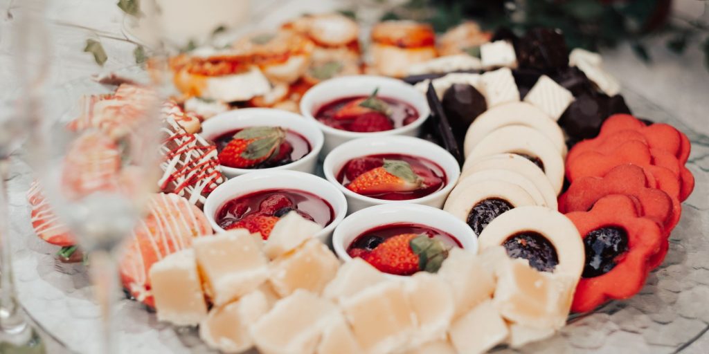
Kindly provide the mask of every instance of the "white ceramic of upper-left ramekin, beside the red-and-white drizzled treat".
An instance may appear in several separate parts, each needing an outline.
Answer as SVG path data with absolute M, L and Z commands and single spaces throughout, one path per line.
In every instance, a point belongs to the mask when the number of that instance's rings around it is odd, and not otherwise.
M 296 113 L 272 108 L 230 110 L 203 122 L 200 135 L 206 139 L 216 139 L 227 132 L 257 126 L 283 127 L 287 130 L 292 130 L 308 140 L 311 145 L 311 152 L 308 152 L 306 156 L 303 156 L 298 161 L 269 169 L 235 169 L 233 167 L 220 166 L 225 176 L 233 178 L 253 171 L 271 170 L 292 170 L 307 173 L 316 171 L 318 154 L 323 149 L 323 132 L 311 120 L 305 119 L 302 115 Z

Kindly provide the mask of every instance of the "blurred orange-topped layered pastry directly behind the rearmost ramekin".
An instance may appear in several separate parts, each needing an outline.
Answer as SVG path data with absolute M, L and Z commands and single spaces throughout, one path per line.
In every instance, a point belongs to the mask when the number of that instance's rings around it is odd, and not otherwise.
M 381 75 L 403 77 L 412 64 L 436 57 L 430 25 L 413 21 L 384 21 L 372 28 L 372 67 Z

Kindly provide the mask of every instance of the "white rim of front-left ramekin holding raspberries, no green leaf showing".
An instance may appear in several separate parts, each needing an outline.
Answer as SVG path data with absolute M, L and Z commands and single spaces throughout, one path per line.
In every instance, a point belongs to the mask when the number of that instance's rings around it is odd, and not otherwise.
M 334 185 L 310 173 L 288 170 L 259 170 L 232 178 L 222 183 L 208 195 L 206 202 L 204 202 L 204 214 L 216 232 L 224 232 L 224 229 L 219 227 L 216 222 L 216 215 L 225 202 L 259 190 L 279 189 L 302 190 L 323 198 L 333 207 L 335 214 L 333 221 L 315 235 L 324 244 L 329 244 L 333 230 L 347 215 L 347 201 L 345 196 Z

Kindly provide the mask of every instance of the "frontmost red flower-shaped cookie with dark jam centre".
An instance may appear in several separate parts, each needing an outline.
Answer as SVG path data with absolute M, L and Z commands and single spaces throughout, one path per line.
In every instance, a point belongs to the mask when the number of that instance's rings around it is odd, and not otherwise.
M 571 311 L 588 312 L 608 299 L 627 299 L 640 291 L 651 269 L 647 259 L 667 240 L 656 222 L 639 214 L 626 195 L 608 195 L 588 212 L 566 214 L 586 246 L 584 275 Z

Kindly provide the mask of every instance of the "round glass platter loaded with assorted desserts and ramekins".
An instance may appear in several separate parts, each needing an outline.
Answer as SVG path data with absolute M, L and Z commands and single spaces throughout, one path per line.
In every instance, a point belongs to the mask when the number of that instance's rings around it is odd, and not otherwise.
M 170 58 L 123 351 L 670 353 L 706 331 L 708 137 L 557 30 L 359 31 L 306 15 Z M 130 173 L 118 142 L 155 93 L 123 77 L 67 89 L 69 190 Z M 26 198 L 21 299 L 92 353 L 90 261 Z

